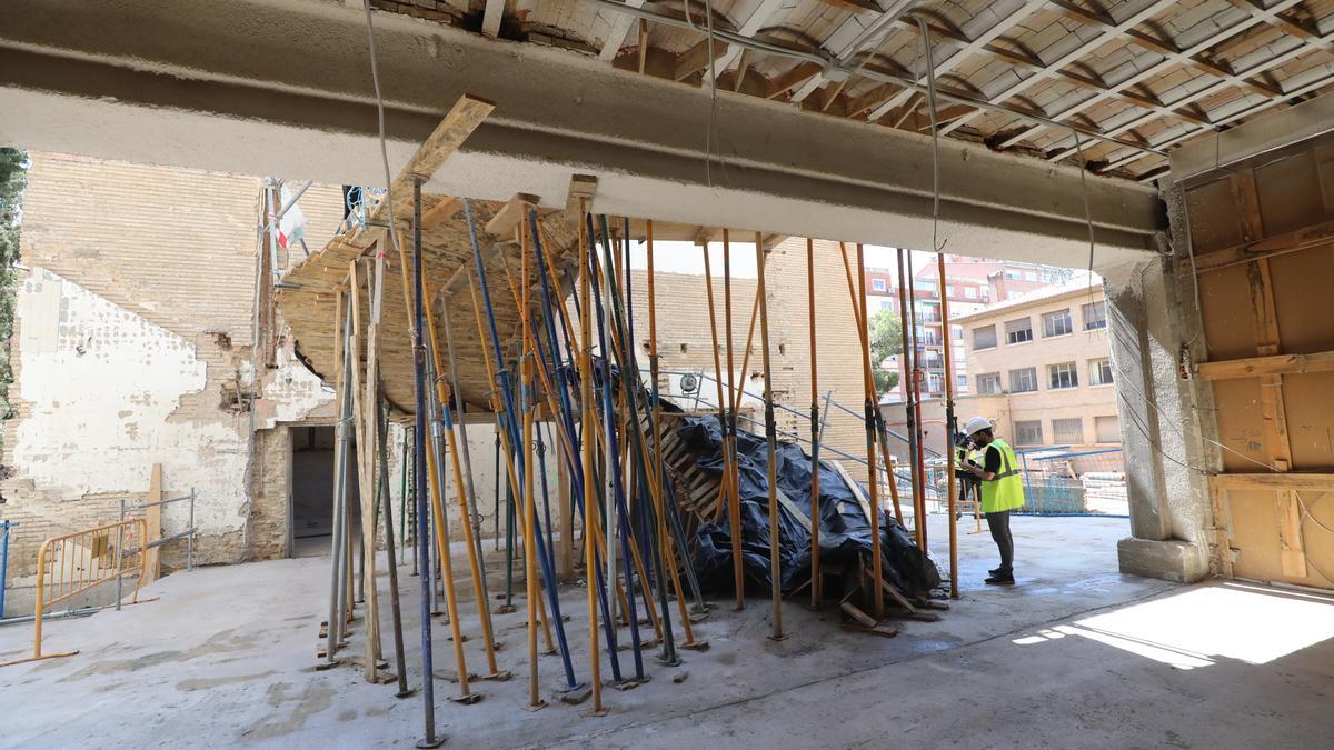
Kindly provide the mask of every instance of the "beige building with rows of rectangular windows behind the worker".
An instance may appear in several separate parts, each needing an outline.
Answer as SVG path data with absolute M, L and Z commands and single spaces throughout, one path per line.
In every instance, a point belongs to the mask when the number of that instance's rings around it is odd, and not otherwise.
M 1101 284 L 1087 275 L 958 315 L 971 394 L 959 414 L 1019 447 L 1121 443 Z

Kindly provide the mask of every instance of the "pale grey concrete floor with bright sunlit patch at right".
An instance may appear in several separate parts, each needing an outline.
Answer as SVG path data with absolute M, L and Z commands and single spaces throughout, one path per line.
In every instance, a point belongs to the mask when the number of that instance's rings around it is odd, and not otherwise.
M 932 518 L 942 558 L 943 524 Z M 962 534 L 963 598 L 940 622 L 902 623 L 891 639 L 844 633 L 835 613 L 791 602 L 790 638 L 775 643 L 766 601 L 740 614 L 722 603 L 696 623 L 711 650 L 683 651 L 675 669 L 646 659 L 652 681 L 607 689 L 600 718 L 584 715 L 587 703 L 522 710 L 522 601 L 496 618 L 500 666 L 515 679 L 475 682 L 484 694 L 475 706 L 446 701 L 456 670 L 439 623 L 440 730 L 454 746 L 476 747 L 1327 745 L 1334 598 L 1122 577 L 1125 519 L 1017 518 L 1014 531 L 1018 586 L 982 585 L 991 540 Z M 200 569 L 157 582 L 148 591 L 156 602 L 49 623 L 48 650 L 83 651 L 0 670 L 0 746 L 411 745 L 422 734 L 420 695 L 395 699 L 394 686 L 366 685 L 351 666 L 312 669 L 327 575 L 321 559 Z M 418 683 L 418 579 L 402 585 Z M 586 679 L 583 590 L 562 601 Z M 484 671 L 476 617 L 460 621 L 468 671 Z M 344 654 L 360 649 L 359 625 Z M 0 629 L 0 661 L 29 649 L 31 633 Z M 388 630 L 386 653 L 392 661 Z M 630 673 L 628 653 L 620 657 Z M 546 697 L 559 674 L 559 657 L 544 657 Z

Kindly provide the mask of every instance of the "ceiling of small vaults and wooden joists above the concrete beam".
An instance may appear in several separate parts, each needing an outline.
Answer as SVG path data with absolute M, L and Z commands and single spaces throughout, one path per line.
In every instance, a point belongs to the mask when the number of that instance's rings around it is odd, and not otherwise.
M 372 0 L 683 85 L 1153 180 L 1167 151 L 1334 89 L 1334 0 Z M 706 8 L 712 9 L 712 57 Z M 688 13 L 688 15 L 687 15 Z M 691 23 L 684 23 L 686 20 Z M 747 40 L 754 45 L 732 44 Z M 803 57 L 804 55 L 804 57 Z M 812 57 L 814 56 L 814 57 Z M 815 59 L 836 61 L 839 72 Z M 844 75 L 850 71 L 850 75 Z

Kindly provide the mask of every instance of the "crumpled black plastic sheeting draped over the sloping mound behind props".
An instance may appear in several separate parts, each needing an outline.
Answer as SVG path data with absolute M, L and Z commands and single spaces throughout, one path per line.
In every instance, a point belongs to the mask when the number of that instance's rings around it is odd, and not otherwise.
M 716 416 L 684 418 L 676 434 L 688 448 L 703 454 L 696 466 L 714 475 L 723 472 L 723 440 Z M 770 590 L 768 444 L 763 436 L 736 431 L 740 476 L 742 560 L 746 579 Z M 795 443 L 778 444 L 778 486 L 800 512 L 810 518 L 811 456 Z M 820 565 L 855 566 L 860 555 L 870 569 L 871 524 L 843 476 L 820 462 Z M 700 586 L 731 591 L 732 539 L 727 512 L 720 523 L 704 522 L 696 531 L 694 554 Z M 811 575 L 811 535 L 800 520 L 779 504 L 779 581 L 784 595 Z M 926 597 L 940 583 L 940 573 L 892 516 L 880 520 L 883 575 L 908 597 Z

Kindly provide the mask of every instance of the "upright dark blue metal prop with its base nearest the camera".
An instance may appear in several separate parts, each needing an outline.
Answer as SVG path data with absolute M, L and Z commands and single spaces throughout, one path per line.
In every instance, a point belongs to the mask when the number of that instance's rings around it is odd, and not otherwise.
M 431 534 L 426 524 L 426 342 L 422 326 L 426 311 L 422 304 L 422 181 L 412 180 L 412 376 L 416 386 L 416 508 L 418 508 L 418 556 L 422 559 L 422 701 L 426 734 L 418 741 L 422 749 L 444 745 L 444 735 L 435 735 L 435 667 L 431 663 Z

